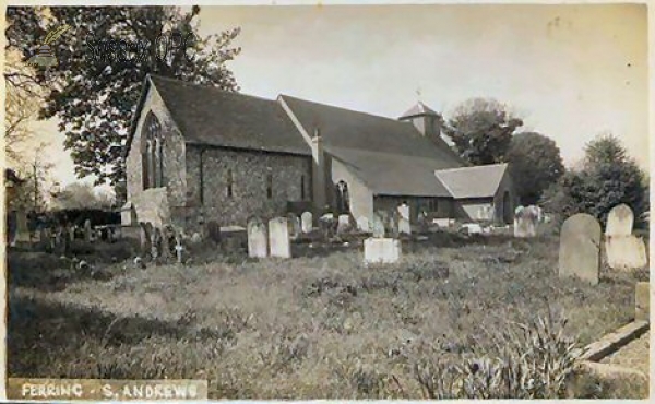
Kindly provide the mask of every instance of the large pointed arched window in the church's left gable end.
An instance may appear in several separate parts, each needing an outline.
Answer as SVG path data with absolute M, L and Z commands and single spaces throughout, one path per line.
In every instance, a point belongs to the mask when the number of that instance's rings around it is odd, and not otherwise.
M 143 189 L 164 186 L 162 124 L 153 112 L 147 112 L 142 130 Z

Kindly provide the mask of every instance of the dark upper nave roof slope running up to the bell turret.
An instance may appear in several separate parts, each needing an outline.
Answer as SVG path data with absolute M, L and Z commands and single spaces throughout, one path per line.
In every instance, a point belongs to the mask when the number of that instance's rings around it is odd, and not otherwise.
M 410 122 L 313 103 L 288 95 L 281 98 L 289 106 L 305 130 L 320 130 L 325 147 L 364 150 L 407 157 L 439 161 L 442 167 L 460 167 L 462 162 L 450 150 L 437 147 Z M 382 175 L 382 173 L 380 173 Z

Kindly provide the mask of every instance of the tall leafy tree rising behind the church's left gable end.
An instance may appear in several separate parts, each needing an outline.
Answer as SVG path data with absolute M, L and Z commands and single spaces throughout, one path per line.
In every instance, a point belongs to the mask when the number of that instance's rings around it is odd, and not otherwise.
M 124 146 L 143 80 L 148 73 L 237 91 L 226 62 L 240 48 L 239 29 L 201 38 L 199 7 L 52 7 L 47 17 L 31 8 L 8 8 L 8 47 L 28 60 L 52 29 L 68 25 L 49 44 L 58 66 L 41 68 L 36 81 L 50 91 L 41 118 L 59 118 L 79 178 L 96 185 L 124 177 Z

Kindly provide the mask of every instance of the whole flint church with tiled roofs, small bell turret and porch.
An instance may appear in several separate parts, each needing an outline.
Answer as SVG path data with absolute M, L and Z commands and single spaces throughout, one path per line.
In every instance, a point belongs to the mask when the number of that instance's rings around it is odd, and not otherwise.
M 513 219 L 505 164 L 469 167 L 418 103 L 386 118 L 287 95 L 265 99 L 148 75 L 124 150 L 123 225 L 245 226 L 289 212 L 372 221 Z

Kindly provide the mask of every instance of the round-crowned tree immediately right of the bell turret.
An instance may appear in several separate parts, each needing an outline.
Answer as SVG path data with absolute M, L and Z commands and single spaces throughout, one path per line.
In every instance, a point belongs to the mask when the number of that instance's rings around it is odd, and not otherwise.
M 523 126 L 508 108 L 490 98 L 472 98 L 457 108 L 444 124 L 462 158 L 474 165 L 504 162 L 512 134 Z

